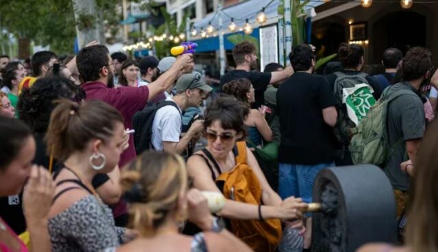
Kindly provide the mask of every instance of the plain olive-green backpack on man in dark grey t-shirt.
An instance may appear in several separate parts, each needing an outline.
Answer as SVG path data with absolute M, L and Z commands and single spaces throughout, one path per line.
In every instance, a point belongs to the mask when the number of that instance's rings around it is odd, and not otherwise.
M 388 105 L 399 96 L 417 95 L 409 90 L 398 90 L 388 94 L 390 87 L 385 89 L 382 97 L 371 107 L 359 125 L 352 128 L 353 136 L 348 149 L 355 165 L 385 165 L 389 156 L 394 152 L 394 147 L 403 140 L 401 138 L 394 145 L 389 146 L 387 132 Z

